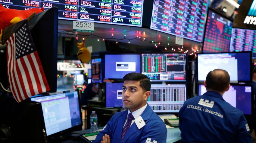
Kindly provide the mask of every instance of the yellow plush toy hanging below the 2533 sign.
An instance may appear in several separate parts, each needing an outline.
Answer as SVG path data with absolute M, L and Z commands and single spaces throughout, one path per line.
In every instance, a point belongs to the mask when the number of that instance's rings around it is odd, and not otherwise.
M 90 51 L 85 47 L 84 39 L 82 43 L 77 43 L 77 48 L 79 49 L 77 52 L 77 58 L 81 61 L 81 63 L 90 63 L 92 55 Z

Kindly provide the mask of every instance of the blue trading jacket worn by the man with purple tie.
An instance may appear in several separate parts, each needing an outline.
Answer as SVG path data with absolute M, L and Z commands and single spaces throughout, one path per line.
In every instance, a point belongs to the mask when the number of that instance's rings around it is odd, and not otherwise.
M 128 110 L 114 114 L 104 127 L 104 130 L 97 135 L 93 143 L 100 143 L 102 136 L 105 134 L 110 136 L 111 143 L 121 143 L 121 135 L 127 113 Z M 152 111 L 149 105 L 147 105 L 141 116 L 145 121 L 145 126 L 138 129 L 134 122 L 128 129 L 123 143 L 166 143 L 166 126 L 161 118 Z

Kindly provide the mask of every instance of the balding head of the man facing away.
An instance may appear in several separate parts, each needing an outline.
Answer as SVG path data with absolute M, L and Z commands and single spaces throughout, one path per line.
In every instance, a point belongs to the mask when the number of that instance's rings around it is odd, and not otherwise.
M 214 69 L 206 76 L 207 89 L 217 92 L 224 92 L 230 83 L 230 77 L 227 71 L 222 69 Z

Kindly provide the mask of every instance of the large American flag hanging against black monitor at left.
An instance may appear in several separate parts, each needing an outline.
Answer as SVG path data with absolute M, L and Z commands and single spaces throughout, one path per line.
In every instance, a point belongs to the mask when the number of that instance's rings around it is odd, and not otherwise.
M 7 74 L 17 102 L 50 90 L 27 21 L 6 41 Z

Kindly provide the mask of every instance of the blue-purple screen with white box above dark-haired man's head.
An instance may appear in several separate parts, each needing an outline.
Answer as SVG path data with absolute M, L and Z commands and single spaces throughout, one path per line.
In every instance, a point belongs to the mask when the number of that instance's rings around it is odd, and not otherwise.
M 105 78 L 123 79 L 130 72 L 140 72 L 139 54 L 106 54 Z

